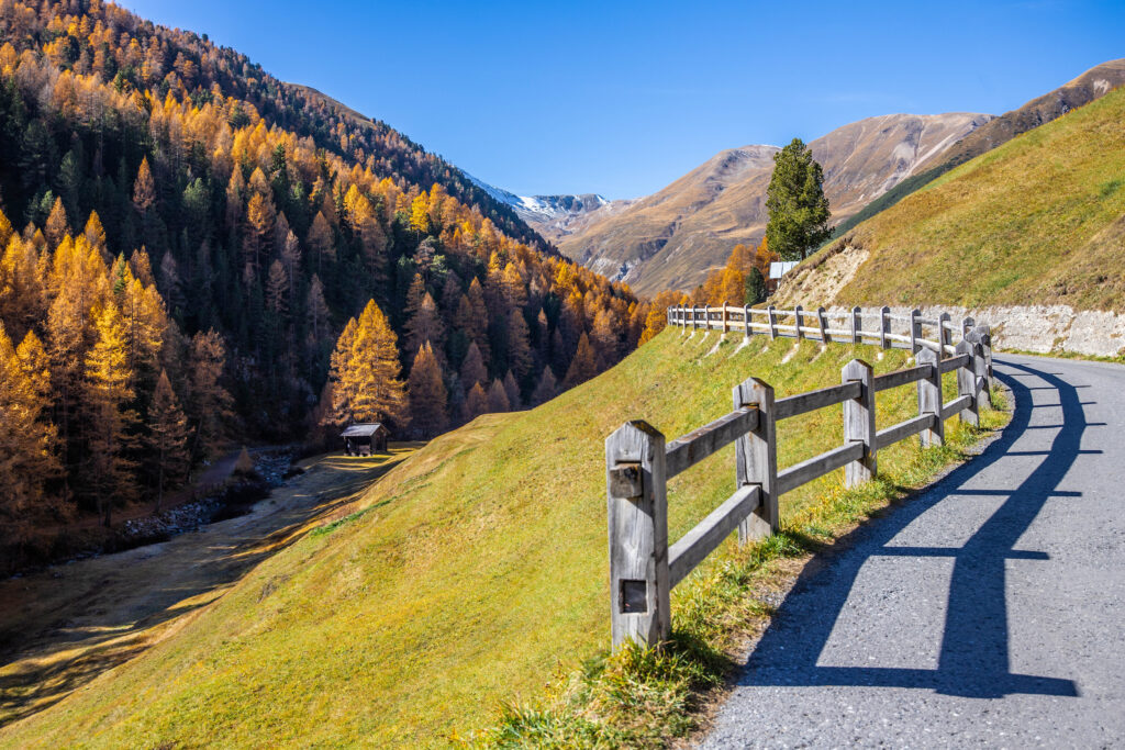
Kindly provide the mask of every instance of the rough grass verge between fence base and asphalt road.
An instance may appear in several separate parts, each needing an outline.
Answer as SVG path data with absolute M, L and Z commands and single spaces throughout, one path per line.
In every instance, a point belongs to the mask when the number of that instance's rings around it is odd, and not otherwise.
M 559 674 L 539 702 L 504 706 L 496 723 L 466 744 L 659 747 L 696 731 L 738 656 L 768 625 L 771 602 L 781 598 L 804 563 L 951 464 L 971 458 L 971 449 L 1010 418 L 1005 394 L 994 389 L 992 396 L 996 409 L 982 409 L 979 430 L 951 423 L 945 445 L 916 449 L 900 470 L 827 493 L 757 544 L 740 549 L 728 541 L 675 589 L 672 638 L 662 647 L 602 652 Z

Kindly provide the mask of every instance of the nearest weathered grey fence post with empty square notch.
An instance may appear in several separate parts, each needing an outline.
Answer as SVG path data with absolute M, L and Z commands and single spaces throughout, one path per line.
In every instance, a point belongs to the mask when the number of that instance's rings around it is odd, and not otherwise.
M 656 645 L 672 632 L 664 435 L 646 422 L 605 439 L 613 650 Z

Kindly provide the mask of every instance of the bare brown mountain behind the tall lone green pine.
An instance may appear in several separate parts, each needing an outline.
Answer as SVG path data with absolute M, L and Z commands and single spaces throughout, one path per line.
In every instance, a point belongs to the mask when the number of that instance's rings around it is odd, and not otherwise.
M 835 220 L 925 169 L 989 115 L 886 115 L 809 144 L 825 170 Z M 774 146 L 724 151 L 652 196 L 559 240 L 559 250 L 600 273 L 652 293 L 702 282 L 738 243 L 765 233 Z

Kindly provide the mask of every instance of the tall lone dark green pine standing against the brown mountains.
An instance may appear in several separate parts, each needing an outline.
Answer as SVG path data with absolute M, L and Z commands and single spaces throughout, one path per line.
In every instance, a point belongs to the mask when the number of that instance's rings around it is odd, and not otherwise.
M 831 232 L 825 175 L 812 150 L 800 138 L 774 154 L 774 171 L 766 189 L 766 241 L 783 260 L 804 260 Z

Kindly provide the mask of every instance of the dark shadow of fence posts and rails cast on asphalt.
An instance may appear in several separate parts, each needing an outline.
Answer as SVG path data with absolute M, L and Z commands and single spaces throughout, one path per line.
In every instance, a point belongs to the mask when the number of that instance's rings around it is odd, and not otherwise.
M 999 362 L 998 362 L 999 363 Z M 845 541 L 844 550 L 826 564 L 808 566 L 785 597 L 773 623 L 750 653 L 740 685 L 917 687 L 939 694 L 993 698 L 1009 694 L 1077 696 L 1069 679 L 1012 674 L 1008 657 L 1008 612 L 1005 562 L 1010 559 L 1047 560 L 1045 552 L 1016 550 L 1020 535 L 1050 498 L 1080 493 L 1058 490 L 1082 452 L 1086 421 L 1078 389 L 1050 372 L 1050 363 L 1027 367 L 1005 362 L 1008 373 L 997 376 L 1011 388 L 1015 410 L 1002 435 L 972 461 L 958 467 L 929 490 L 892 513 L 874 518 Z M 1018 370 L 1019 372 L 1011 372 Z M 1026 379 L 1036 388 L 1059 395 L 1062 425 L 1048 449 L 1011 451 L 1027 434 L 1033 408 Z M 1032 433 L 1035 434 L 1035 433 Z M 981 472 L 1010 455 L 1037 455 L 1038 463 L 1017 486 L 987 489 L 976 481 Z M 1027 459 L 1020 459 L 1026 461 Z M 1025 466 L 1025 464 L 1022 464 Z M 1007 499 L 960 548 L 896 546 L 899 532 L 951 496 L 1004 496 Z M 956 501 L 953 499 L 952 501 Z M 817 661 L 828 643 L 837 615 L 844 609 L 863 564 L 871 558 L 953 558 L 948 602 L 936 669 L 880 667 L 825 667 Z

